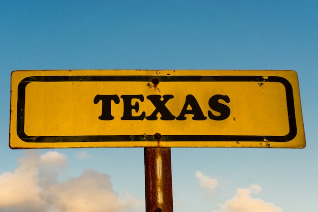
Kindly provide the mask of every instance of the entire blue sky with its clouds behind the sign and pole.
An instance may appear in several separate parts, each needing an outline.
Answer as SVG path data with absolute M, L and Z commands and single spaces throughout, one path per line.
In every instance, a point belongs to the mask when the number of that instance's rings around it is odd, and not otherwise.
M 143 148 L 9 148 L 10 74 L 46 69 L 297 71 L 307 146 L 172 148 L 174 211 L 317 208 L 317 9 L 316 1 L 2 2 L 0 211 L 144 211 Z

